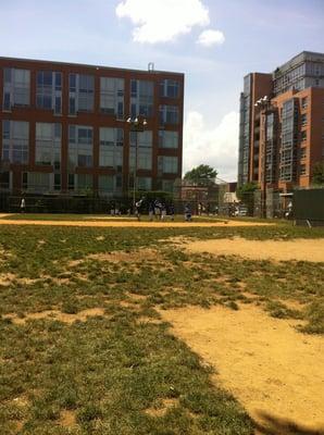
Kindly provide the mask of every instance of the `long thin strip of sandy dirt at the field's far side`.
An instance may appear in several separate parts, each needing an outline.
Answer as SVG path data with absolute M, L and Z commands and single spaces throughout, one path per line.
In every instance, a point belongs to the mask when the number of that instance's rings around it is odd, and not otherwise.
M 1 217 L 1 215 L 0 215 Z M 227 221 L 226 221 L 227 222 Z M 182 228 L 182 227 L 209 227 L 209 226 L 269 226 L 273 224 L 258 222 L 223 221 L 217 222 L 117 222 L 117 221 L 28 221 L 28 220 L 0 220 L 0 225 L 47 225 L 47 226 L 90 226 L 90 227 L 153 227 L 153 228 Z

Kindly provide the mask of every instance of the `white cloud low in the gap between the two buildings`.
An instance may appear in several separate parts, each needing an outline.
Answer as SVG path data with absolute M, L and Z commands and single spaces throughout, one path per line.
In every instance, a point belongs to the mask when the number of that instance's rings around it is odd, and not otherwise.
M 209 128 L 201 113 L 189 112 L 184 125 L 184 173 L 199 164 L 209 164 L 217 170 L 220 178 L 235 182 L 238 123 L 239 114 L 233 111 Z

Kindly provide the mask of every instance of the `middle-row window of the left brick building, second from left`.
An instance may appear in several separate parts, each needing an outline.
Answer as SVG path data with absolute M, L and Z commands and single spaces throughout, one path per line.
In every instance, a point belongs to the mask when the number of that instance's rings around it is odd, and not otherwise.
M 61 166 L 61 124 L 36 123 L 36 164 Z

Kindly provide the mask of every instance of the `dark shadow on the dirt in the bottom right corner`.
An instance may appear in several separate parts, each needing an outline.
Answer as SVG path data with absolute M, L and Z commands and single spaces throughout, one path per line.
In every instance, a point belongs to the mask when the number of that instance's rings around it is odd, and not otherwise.
M 259 412 L 259 422 L 253 423 L 260 435 L 324 435 L 324 426 L 309 428 L 292 420 L 278 419 L 266 412 Z

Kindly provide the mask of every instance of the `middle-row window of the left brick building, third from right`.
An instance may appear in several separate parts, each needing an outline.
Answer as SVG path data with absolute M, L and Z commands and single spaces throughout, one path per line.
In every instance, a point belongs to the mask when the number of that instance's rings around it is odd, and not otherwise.
M 124 132 L 122 128 L 100 127 L 99 165 L 122 171 Z

